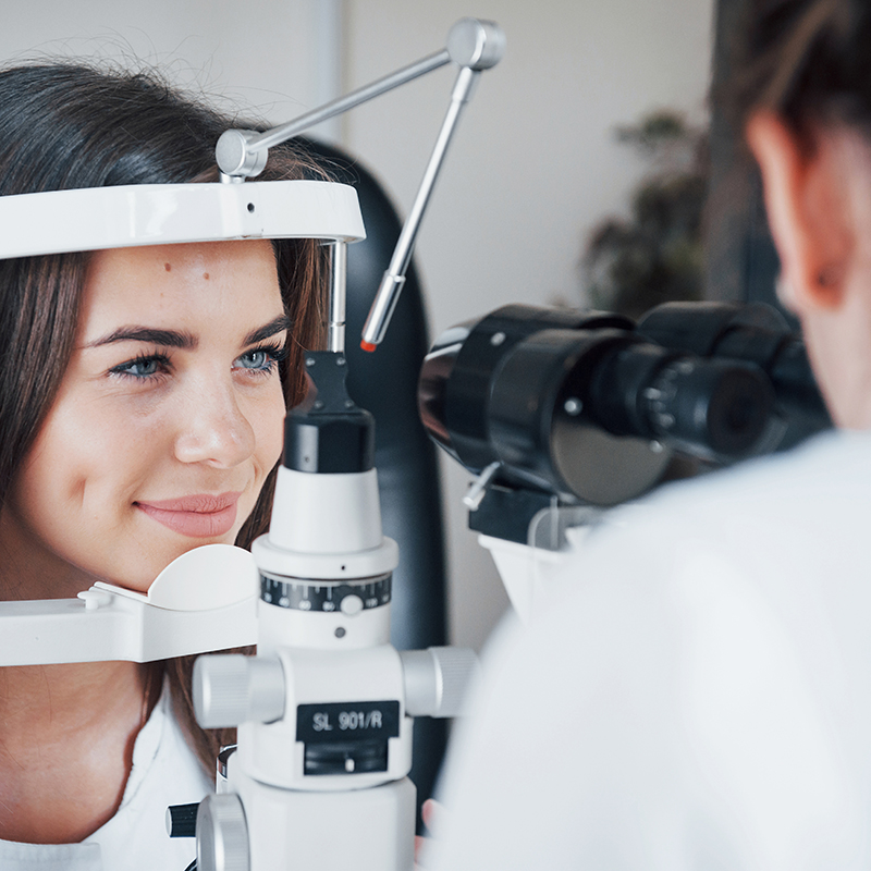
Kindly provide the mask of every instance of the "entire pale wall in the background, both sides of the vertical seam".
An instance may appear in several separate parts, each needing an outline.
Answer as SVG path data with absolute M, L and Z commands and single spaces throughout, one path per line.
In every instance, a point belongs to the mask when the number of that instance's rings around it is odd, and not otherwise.
M 439 50 L 464 15 L 498 21 L 505 60 L 482 77 L 427 217 L 418 265 L 434 331 L 508 302 L 580 303 L 582 240 L 624 209 L 642 167 L 615 123 L 652 107 L 702 112 L 713 0 L 30 0 L 3 4 L 0 61 L 136 57 L 176 82 L 257 107 L 275 123 Z M 342 51 L 339 37 L 342 36 Z M 443 116 L 452 70 L 343 120 L 407 208 Z M 451 615 L 479 647 L 505 608 L 489 556 L 458 507 L 466 475 L 445 464 Z

